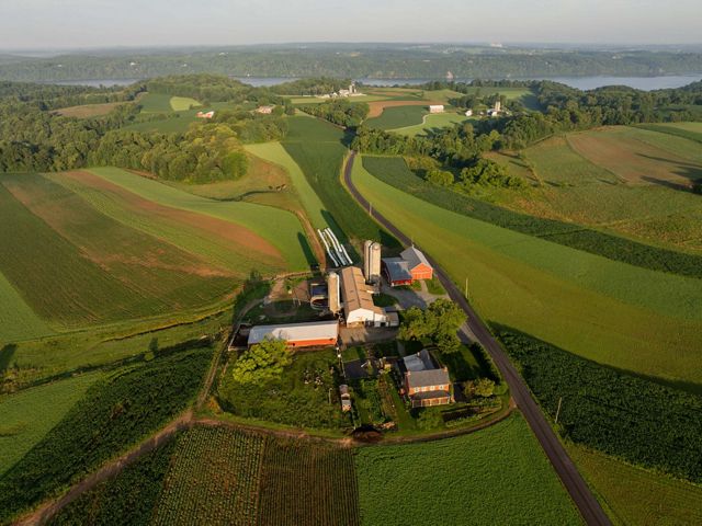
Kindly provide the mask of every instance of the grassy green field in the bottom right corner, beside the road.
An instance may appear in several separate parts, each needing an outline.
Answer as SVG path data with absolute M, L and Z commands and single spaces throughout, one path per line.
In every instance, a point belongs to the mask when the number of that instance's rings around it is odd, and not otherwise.
M 568 455 L 616 526 L 702 523 L 702 488 L 629 466 L 585 447 Z

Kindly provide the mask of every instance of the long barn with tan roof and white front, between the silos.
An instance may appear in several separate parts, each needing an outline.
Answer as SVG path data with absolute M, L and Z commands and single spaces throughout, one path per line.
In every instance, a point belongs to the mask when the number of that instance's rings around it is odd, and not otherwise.
M 373 302 L 373 288 L 358 266 L 341 270 L 341 299 L 347 327 L 387 325 L 387 315 Z

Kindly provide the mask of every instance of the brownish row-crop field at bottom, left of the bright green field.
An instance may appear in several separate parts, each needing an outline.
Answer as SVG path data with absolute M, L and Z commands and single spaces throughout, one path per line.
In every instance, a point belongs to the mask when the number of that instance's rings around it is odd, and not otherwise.
M 358 524 L 349 449 L 234 428 L 178 442 L 155 524 Z

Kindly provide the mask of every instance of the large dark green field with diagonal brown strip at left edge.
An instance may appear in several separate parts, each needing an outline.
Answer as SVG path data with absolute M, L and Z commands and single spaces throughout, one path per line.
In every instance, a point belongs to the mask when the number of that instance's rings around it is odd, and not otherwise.
M 8 175 L 2 184 L 35 217 L 25 224 L 23 258 L 18 248 L 5 268 L 46 319 L 70 327 L 192 309 L 220 299 L 235 283 L 227 271 L 100 214 L 41 175 Z M 47 250 L 38 240 L 27 242 L 34 232 L 56 248 L 56 259 L 35 255 L 44 261 L 21 272 L 30 264 L 24 258 Z

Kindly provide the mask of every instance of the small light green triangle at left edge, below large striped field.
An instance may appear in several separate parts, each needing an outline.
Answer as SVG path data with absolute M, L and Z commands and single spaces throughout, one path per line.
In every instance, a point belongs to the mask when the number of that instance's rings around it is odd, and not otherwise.
M 4 343 L 46 336 L 53 332 L 0 273 L 0 373 L 10 365 L 9 357 L 5 362 L 1 354 Z

